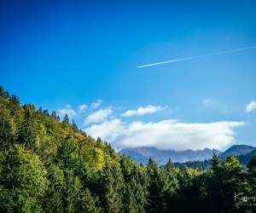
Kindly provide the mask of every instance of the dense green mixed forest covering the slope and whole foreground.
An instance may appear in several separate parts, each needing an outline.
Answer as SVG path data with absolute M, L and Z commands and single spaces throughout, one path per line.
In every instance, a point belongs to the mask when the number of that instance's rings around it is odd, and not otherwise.
M 66 115 L 0 87 L 0 212 L 256 212 L 256 155 L 200 166 L 135 164 Z

